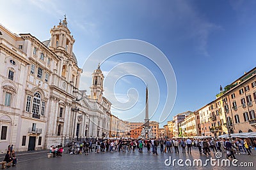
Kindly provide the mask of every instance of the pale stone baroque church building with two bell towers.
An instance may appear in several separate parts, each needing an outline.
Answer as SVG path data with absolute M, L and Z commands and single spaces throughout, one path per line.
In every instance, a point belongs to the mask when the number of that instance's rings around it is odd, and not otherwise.
M 113 115 L 100 65 L 87 95 L 79 90 L 83 70 L 74 43 L 66 17 L 43 42 L 0 25 L 0 152 L 12 144 L 17 151 L 42 150 L 110 136 Z

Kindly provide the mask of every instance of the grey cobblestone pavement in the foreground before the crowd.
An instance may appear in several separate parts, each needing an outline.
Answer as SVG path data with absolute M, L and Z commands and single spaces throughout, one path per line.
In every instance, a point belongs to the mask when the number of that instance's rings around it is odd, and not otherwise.
M 158 148 L 158 152 L 160 152 Z M 20 161 L 16 167 L 10 167 L 9 169 L 244 169 L 244 167 L 221 167 L 211 166 L 211 162 L 208 162 L 206 167 L 188 167 L 186 166 L 185 160 L 189 159 L 192 162 L 194 159 L 202 159 L 203 164 L 206 159 L 216 159 L 215 154 L 211 152 L 211 156 L 206 157 L 205 155 L 200 155 L 197 148 L 192 148 L 192 153 L 182 153 L 180 148 L 180 153 L 159 153 L 159 155 L 154 156 L 152 153 L 147 153 L 146 148 L 143 149 L 144 153 L 136 152 L 123 153 L 123 152 L 113 152 L 113 153 L 89 153 L 89 155 L 69 155 L 68 153 L 63 153 L 63 157 L 55 157 L 47 159 L 46 152 L 40 152 L 38 154 L 34 153 L 31 155 L 20 155 Z M 253 167 L 246 167 L 246 169 L 255 169 L 256 166 L 256 152 L 253 150 L 253 155 L 241 154 L 236 155 L 239 160 L 237 165 L 241 162 L 253 162 Z M 184 167 L 177 165 L 175 161 L 175 166 L 173 164 L 166 166 L 164 160 L 172 157 L 173 159 L 182 159 L 184 162 Z M 226 153 L 223 153 L 223 158 L 225 159 Z M 230 159 L 232 160 L 232 159 Z M 167 164 L 169 162 L 166 162 Z M 181 163 L 181 162 L 180 162 Z M 220 163 L 221 165 L 221 163 Z

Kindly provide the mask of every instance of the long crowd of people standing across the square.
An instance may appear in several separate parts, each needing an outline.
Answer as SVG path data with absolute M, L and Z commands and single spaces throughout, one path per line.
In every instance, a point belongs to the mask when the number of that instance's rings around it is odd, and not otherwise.
M 74 146 L 72 146 L 74 147 Z M 79 144 L 79 148 L 70 148 L 71 154 L 88 155 L 90 152 L 95 153 L 113 153 L 113 152 L 138 152 L 143 153 L 191 153 L 191 147 L 198 148 L 199 154 L 209 156 L 211 150 L 215 152 L 226 152 L 227 158 L 236 159 L 236 154 L 247 153 L 252 154 L 252 148 L 256 147 L 256 141 L 250 143 L 247 139 L 103 139 L 92 145 L 92 141 L 83 141 Z M 144 149 L 145 148 L 145 149 Z M 160 149 L 160 150 L 159 150 Z M 159 150 L 159 151 L 158 151 Z

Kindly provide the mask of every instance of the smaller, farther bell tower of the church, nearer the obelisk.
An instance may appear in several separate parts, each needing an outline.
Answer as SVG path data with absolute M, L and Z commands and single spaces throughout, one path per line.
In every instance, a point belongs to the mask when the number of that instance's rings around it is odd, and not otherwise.
M 102 95 L 103 95 L 103 80 L 104 76 L 102 71 L 100 70 L 100 64 L 98 68 L 92 73 L 92 86 L 91 89 L 91 99 L 97 99 L 99 103 L 102 103 Z

